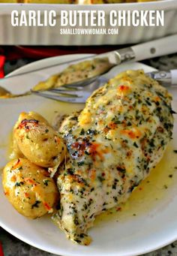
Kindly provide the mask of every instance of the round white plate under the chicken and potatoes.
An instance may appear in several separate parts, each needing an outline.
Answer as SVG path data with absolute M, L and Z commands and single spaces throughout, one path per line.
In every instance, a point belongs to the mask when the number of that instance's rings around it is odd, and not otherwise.
M 63 62 L 69 59 L 75 59 L 78 56 L 61 56 L 26 65 L 18 71 L 28 71 L 31 68 L 40 68 L 51 63 Z M 135 63 L 131 65 L 121 65 L 112 71 L 112 75 L 126 69 L 143 68 L 145 71 L 151 71 L 153 68 Z M 37 72 L 34 75 L 28 75 L 27 79 L 14 78 L 13 83 L 7 83 L 7 88 L 13 92 L 19 92 L 21 86 L 26 86 L 26 90 L 33 86 L 38 80 L 46 79 L 49 74 L 55 73 L 57 68 L 52 71 Z M 171 89 L 176 99 L 177 90 Z M 46 111 L 43 111 L 43 106 Z M 1 149 L 0 149 L 0 166 L 7 162 L 7 140 L 14 122 L 21 111 L 37 110 L 47 115 L 49 110 L 62 110 L 70 112 L 72 106 L 60 104 L 54 101 L 39 98 L 37 96 L 28 96 L 19 99 L 6 99 L 0 101 L 1 125 Z M 177 110 L 176 101 L 173 101 L 173 108 Z M 176 122 L 176 120 L 175 120 Z M 174 144 L 177 148 L 177 127 L 175 123 Z M 136 218 L 129 218 L 127 221 L 116 222 L 115 220 L 103 221 L 97 224 L 91 230 L 90 235 L 93 242 L 89 246 L 75 245 L 65 237 L 65 233 L 55 227 L 49 218 L 39 218 L 30 220 L 23 217 L 8 203 L 2 190 L 0 180 L 0 225 L 13 236 L 54 254 L 62 255 L 137 255 L 148 251 L 153 251 L 163 245 L 177 239 L 177 188 L 169 188 L 164 200 L 157 202 L 152 209 L 142 213 Z

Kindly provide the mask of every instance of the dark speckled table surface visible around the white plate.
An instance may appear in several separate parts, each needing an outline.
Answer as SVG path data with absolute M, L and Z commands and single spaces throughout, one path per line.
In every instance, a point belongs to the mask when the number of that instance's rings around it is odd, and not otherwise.
M 169 70 L 172 68 L 177 68 L 177 54 L 171 56 L 163 56 L 161 58 L 151 59 L 145 62 L 147 65 L 151 65 L 154 68 L 160 70 Z M 11 70 L 10 70 L 11 71 Z M 0 241 L 3 247 L 5 256 L 52 256 L 55 254 L 49 254 L 46 251 L 41 251 L 25 242 L 20 241 L 16 237 L 7 233 L 4 229 L 0 227 Z M 0 252 L 1 255 L 1 252 Z M 164 248 L 160 248 L 157 251 L 152 251 L 148 254 L 143 254 L 143 256 L 177 256 L 177 241 L 172 242 L 172 244 L 167 245 Z

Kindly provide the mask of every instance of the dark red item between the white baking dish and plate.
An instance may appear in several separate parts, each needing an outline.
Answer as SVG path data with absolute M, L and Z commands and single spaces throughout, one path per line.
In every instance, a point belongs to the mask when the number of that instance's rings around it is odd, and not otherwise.
M 120 46 L 119 46 L 120 47 Z M 1 46 L 0 47 L 0 78 L 5 74 L 20 68 L 20 65 L 26 65 L 28 62 L 34 62 L 38 59 L 44 59 L 52 56 L 62 56 L 74 53 L 105 53 L 117 49 L 117 46 L 90 46 L 90 47 L 22 47 L 22 46 Z M 19 62 L 19 60 L 22 60 Z M 24 64 L 23 64 L 24 61 Z M 6 65 L 7 64 L 7 65 Z M 5 74 L 4 68 L 5 65 Z

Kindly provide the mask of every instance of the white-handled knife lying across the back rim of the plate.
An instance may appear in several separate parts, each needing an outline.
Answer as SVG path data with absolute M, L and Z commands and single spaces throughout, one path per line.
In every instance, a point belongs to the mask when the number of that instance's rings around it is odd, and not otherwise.
M 58 64 L 56 63 L 55 65 L 44 66 L 43 68 L 37 68 L 34 70 L 25 71 L 18 74 L 12 74 L 4 78 L 1 78 L 0 81 L 9 80 L 10 78 L 13 78 L 13 77 L 20 77 L 22 75 L 34 73 L 37 71 L 44 71 L 47 68 L 54 68 L 54 67 L 62 68 L 62 66 L 64 66 L 65 68 L 65 65 L 74 64 L 77 62 L 83 62 L 87 59 L 92 60 L 95 58 L 99 58 L 99 59 L 107 58 L 110 62 L 110 65 L 115 66 L 115 65 L 121 65 L 121 63 L 125 63 L 125 62 L 139 62 L 144 59 L 151 59 L 154 57 L 159 57 L 159 56 L 163 56 L 171 53 L 177 53 L 177 34 L 170 35 L 165 38 L 160 38 L 154 41 L 148 41 L 142 44 L 136 44 L 132 47 L 113 50 L 108 53 L 101 53 L 96 56 L 95 55 L 86 56 L 86 57 L 82 57 L 82 58 L 67 61 L 67 62 L 62 62 L 62 63 L 60 62 Z

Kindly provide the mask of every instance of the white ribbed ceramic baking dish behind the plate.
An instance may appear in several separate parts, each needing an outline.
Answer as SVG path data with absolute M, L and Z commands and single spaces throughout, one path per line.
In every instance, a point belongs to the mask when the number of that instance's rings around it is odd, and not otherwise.
M 55 10 L 58 17 L 61 10 L 104 10 L 106 29 L 111 10 L 164 10 L 165 25 L 159 27 L 119 27 L 118 35 L 60 35 L 60 25 L 55 27 L 13 27 L 11 11 L 17 10 Z M 177 1 L 162 0 L 158 2 L 113 4 L 113 5 L 34 5 L 34 4 L 0 4 L 0 44 L 20 45 L 100 45 L 100 44 L 136 44 L 150 41 L 177 32 Z M 72 27 L 66 27 L 71 28 Z M 75 27 L 74 27 L 75 28 Z M 76 27 L 80 28 L 79 26 Z M 88 27 L 89 28 L 89 27 Z

